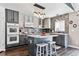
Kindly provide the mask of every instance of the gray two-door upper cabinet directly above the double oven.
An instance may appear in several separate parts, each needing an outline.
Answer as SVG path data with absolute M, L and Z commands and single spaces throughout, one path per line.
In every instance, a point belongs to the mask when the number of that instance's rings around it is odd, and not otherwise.
M 19 12 L 5 9 L 7 23 L 19 23 Z

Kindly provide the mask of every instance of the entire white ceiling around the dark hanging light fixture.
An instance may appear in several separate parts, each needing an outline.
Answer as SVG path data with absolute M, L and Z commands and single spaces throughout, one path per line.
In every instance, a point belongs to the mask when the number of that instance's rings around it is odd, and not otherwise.
M 34 3 L 0 3 L 0 6 L 17 10 L 28 15 L 32 15 L 34 12 L 33 4 Z M 60 15 L 73 12 L 73 10 L 64 3 L 38 3 L 38 4 L 45 7 L 45 13 L 47 17 L 53 17 L 56 16 L 57 14 Z M 79 4 L 72 3 L 72 6 L 74 7 L 75 11 L 79 10 L 78 7 Z

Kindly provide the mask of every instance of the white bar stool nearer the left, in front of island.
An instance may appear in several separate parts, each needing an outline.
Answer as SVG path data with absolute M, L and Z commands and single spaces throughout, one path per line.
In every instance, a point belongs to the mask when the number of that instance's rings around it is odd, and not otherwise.
M 36 44 L 36 46 L 37 46 L 36 56 L 48 56 L 48 44 L 40 43 Z

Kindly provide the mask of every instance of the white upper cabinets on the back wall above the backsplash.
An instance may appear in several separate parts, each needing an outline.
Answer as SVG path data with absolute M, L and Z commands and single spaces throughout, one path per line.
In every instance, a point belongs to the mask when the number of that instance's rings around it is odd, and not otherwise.
M 25 16 L 25 27 L 39 28 L 39 19 L 35 16 Z

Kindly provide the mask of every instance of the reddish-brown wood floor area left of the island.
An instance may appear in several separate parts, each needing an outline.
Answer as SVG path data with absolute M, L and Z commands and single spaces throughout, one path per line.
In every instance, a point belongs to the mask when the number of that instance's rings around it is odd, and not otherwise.
M 0 53 L 0 56 L 28 56 L 27 46 L 9 48 L 5 52 Z

